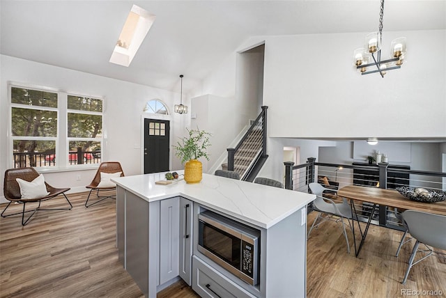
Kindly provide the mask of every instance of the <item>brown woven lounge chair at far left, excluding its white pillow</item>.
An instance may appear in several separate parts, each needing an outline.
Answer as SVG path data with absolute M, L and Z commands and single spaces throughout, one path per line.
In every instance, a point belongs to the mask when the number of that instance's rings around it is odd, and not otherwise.
M 29 220 L 36 213 L 37 210 L 41 210 L 41 211 L 71 210 L 72 205 L 65 194 L 65 192 L 69 191 L 70 188 L 55 188 L 55 187 L 52 187 L 51 185 L 49 185 L 47 182 L 45 182 L 45 186 L 47 187 L 47 191 L 49 192 L 49 194 L 47 196 L 44 196 L 43 198 L 22 198 L 22 195 L 20 194 L 20 186 L 15 179 L 20 178 L 22 180 L 31 182 L 34 179 L 36 179 L 38 176 L 39 176 L 39 173 L 34 168 L 31 168 L 31 167 L 10 168 L 10 169 L 6 170 L 5 180 L 3 183 L 3 194 L 4 194 L 5 198 L 10 202 L 8 203 L 8 205 L 6 205 L 3 212 L 1 212 L 1 217 L 10 217 L 10 216 L 13 216 L 16 214 L 22 214 L 22 226 L 25 226 L 26 224 L 28 224 Z M 52 209 L 40 208 L 40 203 L 42 201 L 47 201 L 50 198 L 55 198 L 56 196 L 59 196 L 59 194 L 62 194 L 66 198 L 68 204 L 70 204 L 70 207 L 68 207 L 68 208 L 52 208 Z M 23 211 L 13 213 L 13 214 L 4 215 L 6 209 L 8 209 L 9 205 L 13 202 L 22 203 Z M 39 203 L 38 207 L 36 207 L 33 210 L 26 211 L 25 210 L 26 203 L 31 203 L 31 202 L 38 202 Z M 27 212 L 33 212 L 33 213 L 25 220 L 24 215 Z

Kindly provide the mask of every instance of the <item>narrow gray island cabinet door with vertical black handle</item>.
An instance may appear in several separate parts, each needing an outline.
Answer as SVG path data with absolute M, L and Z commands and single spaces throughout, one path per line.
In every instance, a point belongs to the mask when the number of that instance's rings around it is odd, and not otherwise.
M 191 285 L 192 201 L 180 198 L 180 277 Z

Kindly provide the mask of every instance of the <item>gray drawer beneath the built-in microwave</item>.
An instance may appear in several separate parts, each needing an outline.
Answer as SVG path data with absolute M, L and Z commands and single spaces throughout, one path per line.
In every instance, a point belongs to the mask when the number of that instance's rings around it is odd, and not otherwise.
M 201 297 L 255 297 L 203 262 L 192 257 L 192 289 Z

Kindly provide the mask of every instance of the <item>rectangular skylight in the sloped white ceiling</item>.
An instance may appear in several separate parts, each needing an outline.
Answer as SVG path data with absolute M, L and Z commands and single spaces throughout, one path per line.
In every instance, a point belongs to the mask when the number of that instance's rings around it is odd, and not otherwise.
M 128 66 L 155 22 L 156 15 L 139 6 L 132 6 L 109 62 Z

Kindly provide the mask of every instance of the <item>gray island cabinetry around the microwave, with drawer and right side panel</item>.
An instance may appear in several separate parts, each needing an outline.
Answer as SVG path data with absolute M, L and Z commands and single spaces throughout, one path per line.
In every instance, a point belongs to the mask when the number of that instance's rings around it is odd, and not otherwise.
M 198 222 L 198 214 L 206 209 L 206 206 L 194 202 L 194 223 Z M 229 217 L 227 214 L 220 214 Z M 247 222 L 240 222 L 249 225 Z M 245 283 L 203 255 L 197 249 L 198 237 L 194 237 L 192 289 L 201 297 L 214 298 L 306 297 L 307 208 L 303 207 L 289 214 L 268 229 L 253 227 L 261 230 L 259 284 L 253 286 Z M 198 234 L 199 226 L 194 225 L 194 235 Z

